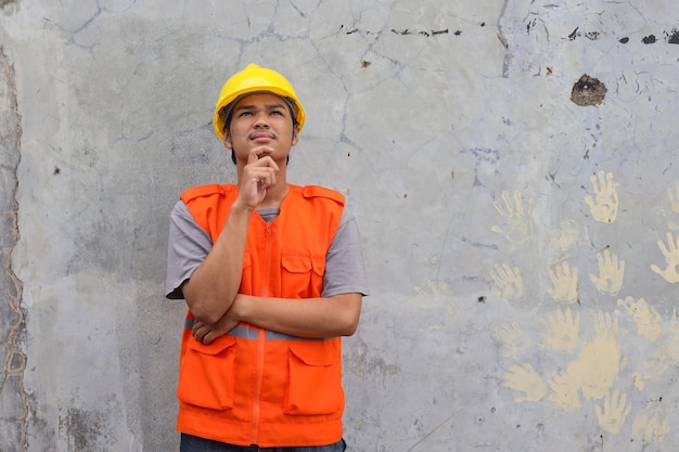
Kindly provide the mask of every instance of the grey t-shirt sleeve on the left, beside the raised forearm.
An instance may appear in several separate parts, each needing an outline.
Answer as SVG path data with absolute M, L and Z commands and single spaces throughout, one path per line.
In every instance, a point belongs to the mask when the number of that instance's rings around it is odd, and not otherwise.
M 170 214 L 167 250 L 165 296 L 182 299 L 181 286 L 205 260 L 213 241 L 201 228 L 183 201 L 178 201 Z

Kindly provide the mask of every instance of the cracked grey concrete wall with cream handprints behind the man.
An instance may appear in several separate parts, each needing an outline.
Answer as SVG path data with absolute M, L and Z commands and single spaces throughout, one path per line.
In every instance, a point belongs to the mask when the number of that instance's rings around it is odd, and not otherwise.
M 361 227 L 349 450 L 679 448 L 679 3 L 0 7 L 0 451 L 177 450 L 168 212 L 248 62 Z

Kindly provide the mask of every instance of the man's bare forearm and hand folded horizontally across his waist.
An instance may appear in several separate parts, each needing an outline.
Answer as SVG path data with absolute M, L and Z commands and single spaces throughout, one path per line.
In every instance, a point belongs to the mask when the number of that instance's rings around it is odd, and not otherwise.
M 196 322 L 192 334 L 196 340 L 209 344 L 239 322 L 245 322 L 298 337 L 351 336 L 358 327 L 362 299 L 363 295 L 358 293 L 319 298 L 268 298 L 239 294 L 219 322 Z

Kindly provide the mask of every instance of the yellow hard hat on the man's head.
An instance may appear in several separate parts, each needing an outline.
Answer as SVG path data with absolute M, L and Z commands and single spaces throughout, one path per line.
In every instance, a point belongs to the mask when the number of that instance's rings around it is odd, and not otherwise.
M 276 70 L 251 63 L 245 66 L 243 70 L 231 76 L 219 92 L 219 100 L 215 106 L 213 124 L 215 126 L 215 133 L 217 133 L 220 140 L 223 140 L 226 118 L 222 118 L 219 112 L 240 96 L 255 92 L 270 92 L 291 100 L 294 103 L 293 109 L 297 120 L 297 132 L 302 131 L 306 116 L 293 86 L 290 85 L 290 81 L 287 81 L 285 77 Z

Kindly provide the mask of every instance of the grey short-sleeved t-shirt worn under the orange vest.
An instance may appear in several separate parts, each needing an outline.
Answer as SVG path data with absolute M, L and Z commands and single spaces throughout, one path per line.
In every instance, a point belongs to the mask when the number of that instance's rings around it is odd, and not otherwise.
M 262 209 L 258 214 L 272 221 L 280 209 Z M 165 296 L 181 299 L 181 285 L 191 277 L 213 247 L 213 241 L 201 228 L 183 201 L 178 201 L 170 214 L 167 280 Z M 369 295 L 360 234 L 354 214 L 345 206 L 340 227 L 325 256 L 323 297 L 360 293 Z

